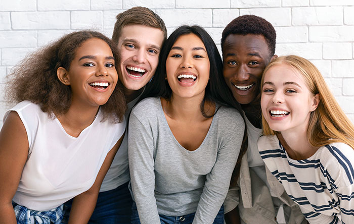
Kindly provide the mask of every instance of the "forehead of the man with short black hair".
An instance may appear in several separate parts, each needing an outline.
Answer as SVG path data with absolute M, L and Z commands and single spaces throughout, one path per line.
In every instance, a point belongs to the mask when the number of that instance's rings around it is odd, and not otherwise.
M 258 53 L 263 58 L 270 57 L 270 50 L 262 35 L 256 34 L 230 34 L 223 45 L 223 57 L 228 55 L 247 55 Z

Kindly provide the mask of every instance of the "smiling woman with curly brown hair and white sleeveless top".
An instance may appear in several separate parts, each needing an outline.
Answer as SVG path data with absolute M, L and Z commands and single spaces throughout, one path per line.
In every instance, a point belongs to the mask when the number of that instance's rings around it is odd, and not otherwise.
M 0 132 L 0 220 L 86 223 L 125 130 L 116 45 L 101 33 L 68 34 L 9 75 Z M 36 220 L 36 221 L 34 221 Z

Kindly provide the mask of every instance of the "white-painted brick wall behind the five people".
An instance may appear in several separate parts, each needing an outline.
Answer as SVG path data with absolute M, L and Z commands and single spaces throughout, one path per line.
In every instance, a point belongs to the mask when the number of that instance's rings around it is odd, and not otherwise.
M 311 60 L 354 121 L 353 0 L 0 0 L 0 121 L 7 108 L 4 77 L 27 53 L 78 29 L 111 36 L 115 16 L 133 6 L 154 10 L 168 33 L 199 24 L 219 49 L 232 19 L 245 14 L 267 19 L 277 31 L 276 53 Z

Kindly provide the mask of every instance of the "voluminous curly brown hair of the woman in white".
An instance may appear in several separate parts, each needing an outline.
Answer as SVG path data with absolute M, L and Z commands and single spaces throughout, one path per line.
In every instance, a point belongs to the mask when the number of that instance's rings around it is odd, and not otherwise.
M 105 41 L 112 50 L 115 67 L 119 67 L 119 53 L 116 44 L 103 34 L 91 30 L 73 32 L 43 47 L 15 66 L 8 76 L 6 97 L 11 101 L 29 100 L 40 106 L 49 117 L 65 114 L 71 105 L 71 88 L 57 77 L 57 69 L 69 71 L 76 49 L 91 38 Z M 122 84 L 118 81 L 108 101 L 101 106 L 103 120 L 122 121 L 126 103 Z

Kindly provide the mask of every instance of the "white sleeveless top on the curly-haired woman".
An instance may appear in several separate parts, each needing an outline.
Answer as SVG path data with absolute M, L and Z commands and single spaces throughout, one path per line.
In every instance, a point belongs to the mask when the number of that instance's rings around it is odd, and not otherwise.
M 10 111 L 19 115 L 27 132 L 28 158 L 13 201 L 33 210 L 56 208 L 90 189 L 106 158 L 125 130 L 118 124 L 94 122 L 78 137 L 68 135 L 59 120 L 51 119 L 37 104 L 22 101 Z M 79 116 L 79 115 L 78 115 Z

